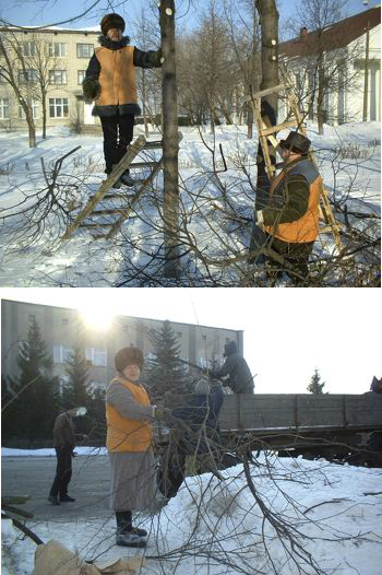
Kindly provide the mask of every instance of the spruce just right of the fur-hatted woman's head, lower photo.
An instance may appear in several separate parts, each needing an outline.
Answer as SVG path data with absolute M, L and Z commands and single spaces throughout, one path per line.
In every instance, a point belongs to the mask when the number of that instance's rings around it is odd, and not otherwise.
M 152 399 L 160 399 L 167 391 L 190 394 L 191 382 L 184 363 L 180 360 L 180 345 L 169 321 L 148 333 L 155 357 L 147 361 L 142 376 Z

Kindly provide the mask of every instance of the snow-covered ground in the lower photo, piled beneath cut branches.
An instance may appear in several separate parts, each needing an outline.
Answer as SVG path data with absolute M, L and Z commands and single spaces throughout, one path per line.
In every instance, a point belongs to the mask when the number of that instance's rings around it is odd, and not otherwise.
M 77 451 L 85 454 L 84 449 Z M 51 453 L 38 449 L 31 455 Z M 2 450 L 3 457 L 26 454 Z M 60 520 L 33 519 L 27 526 L 44 542 L 56 539 L 98 565 L 144 555 L 141 575 L 380 575 L 381 469 L 301 458 L 261 456 L 258 461 L 251 468 L 258 502 L 242 465 L 222 471 L 224 481 L 210 473 L 189 478 L 160 514 L 140 517 L 141 526 L 150 530 L 144 551 L 114 545 L 111 519 L 67 521 L 61 516 Z M 287 539 L 264 520 L 270 513 L 276 514 L 272 520 L 283 519 L 295 530 L 301 547 L 295 547 L 291 558 Z M 9 520 L 1 524 L 2 574 L 32 575 L 35 544 L 22 540 Z

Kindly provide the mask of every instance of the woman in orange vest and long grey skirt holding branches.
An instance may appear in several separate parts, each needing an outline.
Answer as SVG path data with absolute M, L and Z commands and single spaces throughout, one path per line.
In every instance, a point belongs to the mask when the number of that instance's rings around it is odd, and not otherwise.
M 155 500 L 152 423 L 169 410 L 151 406 L 139 383 L 143 354 L 123 348 L 115 356 L 116 377 L 106 389 L 106 446 L 111 465 L 111 508 L 117 545 L 145 547 L 147 532 L 132 525 L 132 512 L 151 508 Z

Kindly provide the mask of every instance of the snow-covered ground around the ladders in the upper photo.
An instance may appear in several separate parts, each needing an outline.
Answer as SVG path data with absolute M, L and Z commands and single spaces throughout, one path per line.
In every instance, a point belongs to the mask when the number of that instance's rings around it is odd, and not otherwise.
M 350 211 L 380 214 L 380 129 L 379 122 L 325 126 L 324 134 L 319 136 L 315 125 L 308 126 L 325 186 L 337 202 L 346 200 Z M 208 285 L 207 278 L 217 277 L 222 285 L 241 285 L 246 262 L 235 260 L 223 266 L 222 261 L 240 259 L 249 245 L 254 201 L 249 179 L 255 184 L 258 139 L 255 136 L 253 140 L 247 139 L 246 126 L 222 126 L 215 138 L 207 128 L 203 129 L 205 145 L 196 128 L 181 130 L 181 239 L 188 253 L 181 284 Z M 134 137 L 140 133 L 142 127 L 138 126 Z M 287 133 L 280 132 L 279 137 Z M 153 133 L 150 139 L 159 136 Z M 220 184 L 213 175 L 211 152 L 215 154 L 216 169 L 224 169 L 219 144 L 228 168 L 218 174 Z M 59 188 L 51 193 L 49 183 L 55 162 L 79 145 L 81 149 L 63 161 Z M 28 148 L 26 133 L 0 133 L 0 215 L 7 216 L 0 227 L 0 285 L 168 285 L 163 280 L 160 257 L 162 174 L 155 183 L 156 191 L 142 197 L 114 240 L 94 240 L 89 231 L 82 228 L 69 240 L 59 242 L 68 225 L 61 208 L 73 201 L 84 204 L 105 177 L 102 149 L 102 137 L 73 136 L 63 128 L 50 129 L 48 139 L 38 139 L 36 149 Z M 154 157 L 159 153 L 151 152 Z M 141 154 L 143 159 L 147 159 L 147 153 Z M 33 206 L 37 198 L 39 209 L 23 216 L 21 211 Z M 116 202 L 110 200 L 104 207 L 116 207 Z M 227 222 L 224 211 L 243 220 L 239 224 Z M 13 216 L 8 218 L 10 214 Z M 360 220 L 357 225 L 366 224 Z M 377 235 L 379 225 L 375 220 Z M 315 244 L 318 254 L 331 254 L 332 249 L 331 236 L 322 236 Z

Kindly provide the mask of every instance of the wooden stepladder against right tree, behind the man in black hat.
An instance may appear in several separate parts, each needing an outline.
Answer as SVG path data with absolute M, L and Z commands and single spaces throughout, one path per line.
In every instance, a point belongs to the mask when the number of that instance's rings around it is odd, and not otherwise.
M 271 126 L 271 124 L 264 120 L 264 118 L 262 118 L 261 116 L 261 98 L 262 96 L 274 94 L 275 92 L 285 93 L 287 105 L 289 108 L 287 117 L 293 117 L 294 119 L 291 121 L 284 121 L 283 124 L 279 124 L 277 126 Z M 275 150 L 278 149 L 278 152 L 280 152 L 279 142 L 275 137 L 276 132 L 279 132 L 287 128 L 295 128 L 296 131 L 302 133 L 308 138 L 307 130 L 303 125 L 303 119 L 301 117 L 300 110 L 298 108 L 296 96 L 293 94 L 291 86 L 289 83 L 286 82 L 285 84 L 279 84 L 277 86 L 270 87 L 268 90 L 262 90 L 261 92 L 256 92 L 251 96 L 250 99 L 253 108 L 253 116 L 258 125 L 259 140 L 264 154 L 265 169 L 268 175 L 270 181 L 272 181 L 276 175 L 276 166 L 272 164 L 267 141 L 271 142 Z M 318 163 L 314 159 L 313 152 L 309 153 L 309 159 L 313 162 L 315 167 L 318 167 Z M 320 234 L 331 232 L 333 234 L 335 246 L 337 250 L 341 251 L 344 247 L 339 237 L 341 224 L 336 221 L 336 219 L 333 215 L 332 208 L 329 201 L 327 190 L 325 190 L 324 188 L 322 189 L 320 197 L 320 220 L 323 220 L 325 223 L 324 226 L 320 227 Z

